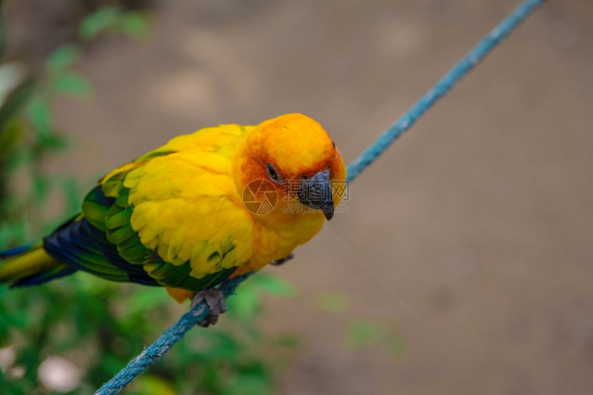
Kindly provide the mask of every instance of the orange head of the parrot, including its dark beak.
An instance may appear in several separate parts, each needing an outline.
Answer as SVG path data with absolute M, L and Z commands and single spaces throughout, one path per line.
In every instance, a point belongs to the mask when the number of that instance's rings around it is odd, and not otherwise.
M 305 214 L 332 219 L 343 195 L 339 184 L 345 182 L 346 169 L 319 122 L 302 114 L 265 120 L 248 134 L 245 148 L 242 184 L 261 182 L 260 190 L 253 191 L 261 194 L 259 198 L 266 193 L 261 186 L 277 193 L 272 218 L 286 222 Z

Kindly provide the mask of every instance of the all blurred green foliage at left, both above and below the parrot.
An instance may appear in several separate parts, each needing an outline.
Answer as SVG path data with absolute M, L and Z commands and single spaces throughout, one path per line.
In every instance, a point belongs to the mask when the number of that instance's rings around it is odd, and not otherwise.
M 51 103 L 58 96 L 91 96 L 92 85 L 73 68 L 85 43 L 104 32 L 141 39 L 148 33 L 146 16 L 113 7 L 91 14 L 81 23 L 81 43 L 54 50 L 39 74 L 19 63 L 0 64 L 0 250 L 41 237 L 79 211 L 76 180 L 43 169 L 48 157 L 68 148 Z M 43 215 L 56 195 L 61 213 Z M 245 281 L 219 325 L 191 331 L 127 393 L 271 394 L 282 361 L 299 341 L 290 334 L 263 334 L 261 301 L 263 295 L 295 293 L 270 275 Z M 162 288 L 115 284 L 86 273 L 39 287 L 1 287 L 0 393 L 55 393 L 59 389 L 48 386 L 42 372 L 59 356 L 70 365 L 61 392 L 90 394 L 186 308 Z

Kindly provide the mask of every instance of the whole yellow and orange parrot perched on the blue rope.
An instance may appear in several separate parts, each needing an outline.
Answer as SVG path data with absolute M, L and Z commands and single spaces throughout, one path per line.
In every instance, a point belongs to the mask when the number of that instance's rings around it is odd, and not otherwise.
M 161 286 L 206 301 L 208 326 L 226 310 L 217 286 L 290 259 L 332 219 L 345 180 L 333 140 L 303 114 L 205 127 L 105 175 L 41 242 L 0 253 L 0 284 L 80 271 Z

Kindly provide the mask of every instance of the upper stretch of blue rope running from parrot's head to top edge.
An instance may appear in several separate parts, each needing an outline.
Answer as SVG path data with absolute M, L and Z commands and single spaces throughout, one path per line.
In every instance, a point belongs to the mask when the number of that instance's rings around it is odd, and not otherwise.
M 419 120 L 424 113 L 434 105 L 440 98 L 450 92 L 459 83 L 461 78 L 472 71 L 486 55 L 506 36 L 511 34 L 536 8 L 543 6 L 545 0 L 525 0 L 519 4 L 513 12 L 508 15 L 496 28 L 485 36 L 467 55 L 459 61 L 434 87 L 426 92 L 397 122 L 388 127 L 386 131 L 375 140 L 361 155 L 348 166 L 348 181 L 358 177 L 364 169 L 379 158 L 392 143 L 405 131 Z

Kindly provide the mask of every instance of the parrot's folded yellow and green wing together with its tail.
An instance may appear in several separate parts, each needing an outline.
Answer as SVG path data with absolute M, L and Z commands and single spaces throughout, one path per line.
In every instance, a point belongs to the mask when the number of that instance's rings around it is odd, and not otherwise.
M 217 137 L 208 133 L 200 138 Z M 237 206 L 228 150 L 183 152 L 191 139 L 174 139 L 105 175 L 81 215 L 1 261 L 0 282 L 41 284 L 82 270 L 201 290 L 229 277 L 250 258 L 252 218 Z

